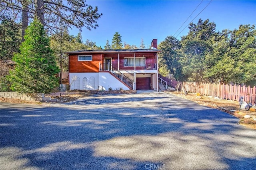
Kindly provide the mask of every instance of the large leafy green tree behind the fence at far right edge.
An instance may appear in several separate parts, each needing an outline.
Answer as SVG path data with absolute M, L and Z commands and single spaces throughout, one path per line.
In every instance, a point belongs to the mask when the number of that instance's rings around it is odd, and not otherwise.
M 205 77 L 220 83 L 251 81 L 256 72 L 255 26 L 240 25 L 238 30 L 223 30 L 219 37 L 207 57 L 210 67 Z

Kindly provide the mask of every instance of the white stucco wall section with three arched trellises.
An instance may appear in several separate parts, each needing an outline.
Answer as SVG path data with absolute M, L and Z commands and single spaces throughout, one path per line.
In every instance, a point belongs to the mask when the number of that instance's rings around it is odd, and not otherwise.
M 73 77 L 77 76 L 79 81 L 79 89 L 78 90 L 97 90 L 99 87 L 99 73 L 69 73 L 69 83 L 70 90 L 75 89 L 75 82 L 72 81 Z M 87 86 L 85 89 L 83 88 L 83 79 L 87 78 Z M 94 77 L 94 85 L 90 83 L 90 78 Z

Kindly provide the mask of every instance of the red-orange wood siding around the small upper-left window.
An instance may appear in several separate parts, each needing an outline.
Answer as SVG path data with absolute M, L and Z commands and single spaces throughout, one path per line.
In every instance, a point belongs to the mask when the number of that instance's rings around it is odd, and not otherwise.
M 77 54 L 69 55 L 70 73 L 94 73 L 99 72 L 99 62 L 102 61 L 101 54 L 79 54 L 92 55 L 92 61 L 78 61 Z

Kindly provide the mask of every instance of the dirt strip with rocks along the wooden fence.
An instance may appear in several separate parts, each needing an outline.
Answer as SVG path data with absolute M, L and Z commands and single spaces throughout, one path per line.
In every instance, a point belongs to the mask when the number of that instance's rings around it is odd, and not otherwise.
M 214 97 L 208 97 L 200 95 L 200 97 L 197 97 L 196 93 L 188 93 L 185 95 L 184 93 L 177 92 L 177 91 L 166 91 L 166 93 L 170 93 L 179 97 L 182 97 L 184 99 L 188 99 L 190 101 L 194 101 L 200 105 L 212 107 L 214 109 L 218 109 L 220 111 L 224 111 L 230 115 L 233 115 L 240 119 L 239 124 L 244 125 L 248 128 L 254 128 L 256 129 L 256 112 L 252 111 L 244 111 L 241 110 L 241 112 L 246 113 L 246 115 L 250 115 L 250 119 L 245 119 L 242 115 L 239 115 L 238 113 L 231 112 L 230 110 L 239 111 L 240 105 L 238 101 L 232 101 L 232 100 L 216 100 Z

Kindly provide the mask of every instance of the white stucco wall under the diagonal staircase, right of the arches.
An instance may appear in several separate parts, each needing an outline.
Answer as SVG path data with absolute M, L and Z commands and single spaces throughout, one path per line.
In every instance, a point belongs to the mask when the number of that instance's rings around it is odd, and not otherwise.
M 110 73 L 99 73 L 99 81 L 100 81 L 100 90 L 108 90 L 109 87 L 112 88 L 112 90 L 120 89 L 122 87 L 123 90 L 129 90 L 126 85 L 121 83 L 116 77 L 111 75 Z

